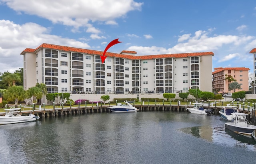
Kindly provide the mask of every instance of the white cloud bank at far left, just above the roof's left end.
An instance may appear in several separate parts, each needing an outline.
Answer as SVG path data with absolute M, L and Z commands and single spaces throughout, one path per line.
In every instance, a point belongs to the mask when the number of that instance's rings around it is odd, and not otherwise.
M 50 43 L 78 48 L 90 48 L 86 43 L 74 39 L 50 35 L 50 29 L 35 23 L 15 24 L 9 20 L 0 20 L 0 72 L 13 72 L 23 67 L 25 48 L 37 48 L 42 43 Z

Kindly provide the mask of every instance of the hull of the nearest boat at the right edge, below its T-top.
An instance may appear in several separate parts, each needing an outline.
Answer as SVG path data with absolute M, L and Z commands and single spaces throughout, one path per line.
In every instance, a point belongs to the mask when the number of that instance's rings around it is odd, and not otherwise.
M 228 122 L 225 124 L 225 128 L 236 133 L 251 135 L 252 132 L 256 129 L 256 126 L 253 126 L 253 125 L 237 126 L 234 122 Z

